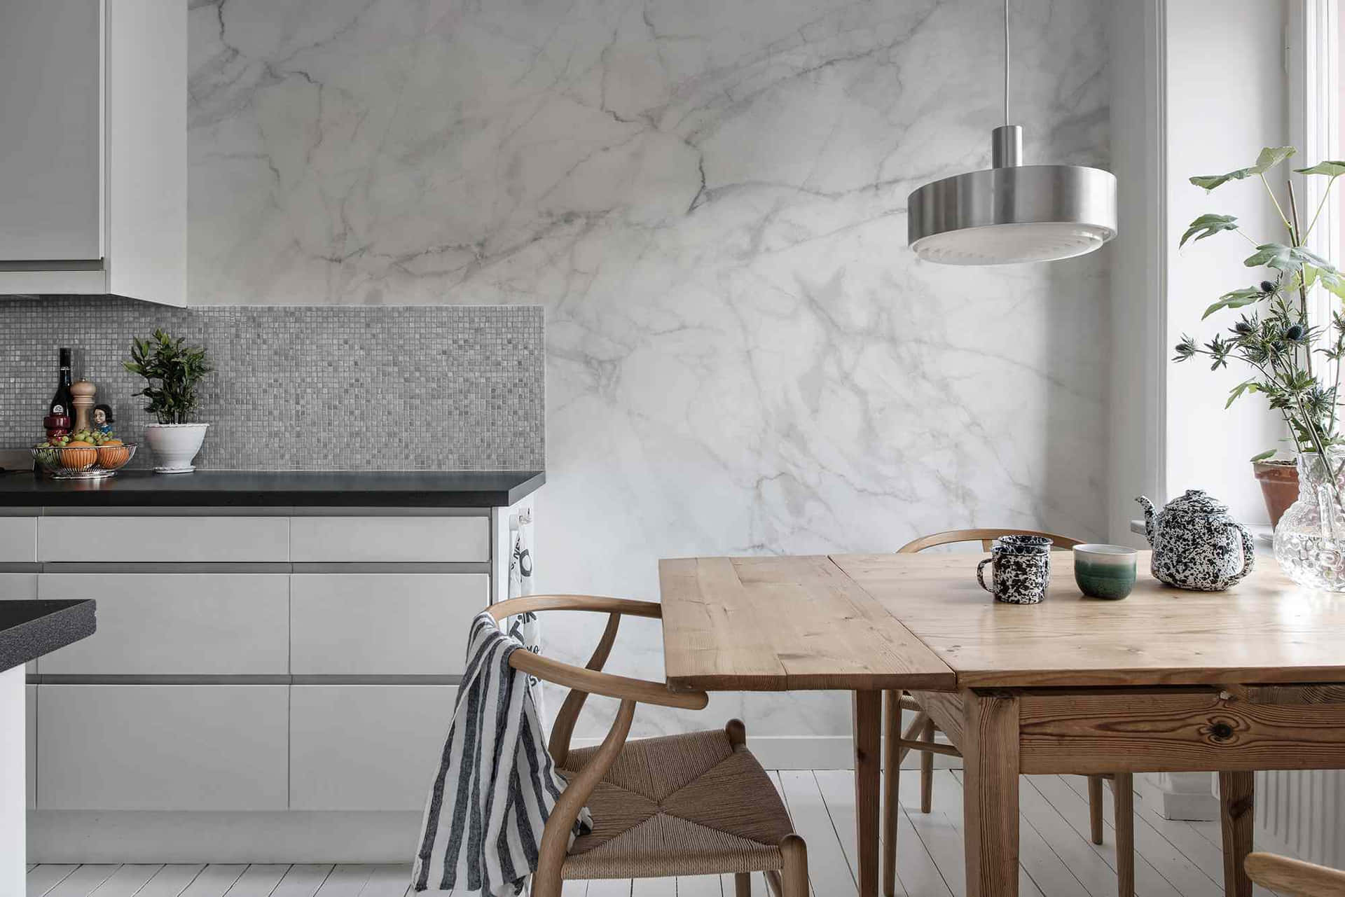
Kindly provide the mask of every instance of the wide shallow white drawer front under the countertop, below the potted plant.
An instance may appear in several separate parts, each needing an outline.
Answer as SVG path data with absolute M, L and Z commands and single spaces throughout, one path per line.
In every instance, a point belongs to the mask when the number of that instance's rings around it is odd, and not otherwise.
M 44 516 L 38 559 L 83 562 L 285 562 L 284 516 Z

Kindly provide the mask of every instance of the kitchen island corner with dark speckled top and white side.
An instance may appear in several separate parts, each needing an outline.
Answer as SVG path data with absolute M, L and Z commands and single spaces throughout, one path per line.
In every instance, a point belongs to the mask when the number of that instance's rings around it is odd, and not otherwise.
M 11 601 L 0 592 L 0 894 L 24 893 L 31 718 L 23 667 L 93 635 L 93 601 Z

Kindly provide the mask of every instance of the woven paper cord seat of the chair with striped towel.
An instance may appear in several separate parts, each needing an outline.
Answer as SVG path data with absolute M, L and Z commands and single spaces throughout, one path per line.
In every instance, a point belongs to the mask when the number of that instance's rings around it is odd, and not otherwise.
M 597 748 L 572 750 L 566 777 Z M 702 875 L 781 867 L 790 814 L 745 745 L 721 729 L 628 741 L 588 802 L 562 878 Z

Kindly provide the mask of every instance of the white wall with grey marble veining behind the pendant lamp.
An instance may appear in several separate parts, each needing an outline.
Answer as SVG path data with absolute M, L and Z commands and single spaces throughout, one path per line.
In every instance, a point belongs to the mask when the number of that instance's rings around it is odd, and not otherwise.
M 1107 164 L 1107 19 L 1014 0 L 1028 161 Z M 1102 535 L 1108 253 L 905 246 L 913 187 L 989 164 L 1002 62 L 997 0 L 191 0 L 191 301 L 542 304 L 545 589 Z M 710 713 L 849 730 L 835 695 Z

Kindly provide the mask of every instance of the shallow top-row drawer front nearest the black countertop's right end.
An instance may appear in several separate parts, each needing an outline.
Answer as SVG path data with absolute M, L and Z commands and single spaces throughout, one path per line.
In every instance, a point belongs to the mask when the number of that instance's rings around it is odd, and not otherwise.
M 296 516 L 291 559 L 328 563 L 490 561 L 484 516 Z

